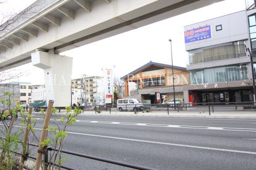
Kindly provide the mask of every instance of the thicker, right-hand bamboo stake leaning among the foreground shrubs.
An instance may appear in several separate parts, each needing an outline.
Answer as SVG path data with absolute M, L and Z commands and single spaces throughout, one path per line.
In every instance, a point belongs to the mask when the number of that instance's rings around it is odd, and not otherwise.
M 41 164 L 41 158 L 42 158 L 42 145 L 41 142 L 45 141 L 46 136 L 47 136 L 47 128 L 49 126 L 49 121 L 52 113 L 52 107 L 53 107 L 54 101 L 49 101 L 48 107 L 47 107 L 47 112 L 46 112 L 46 117 L 45 117 L 45 122 L 44 125 L 42 126 L 42 133 L 41 133 L 41 138 L 40 142 L 38 145 L 37 149 L 37 156 L 36 156 L 36 162 L 35 162 L 35 168 L 34 170 L 39 170 L 40 164 Z

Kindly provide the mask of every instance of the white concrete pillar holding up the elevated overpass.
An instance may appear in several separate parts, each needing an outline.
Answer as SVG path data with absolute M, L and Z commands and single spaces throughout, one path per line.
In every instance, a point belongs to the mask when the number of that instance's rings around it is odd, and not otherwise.
M 32 64 L 44 69 L 46 100 L 55 107 L 71 106 L 71 74 L 73 58 L 37 51 L 31 54 Z

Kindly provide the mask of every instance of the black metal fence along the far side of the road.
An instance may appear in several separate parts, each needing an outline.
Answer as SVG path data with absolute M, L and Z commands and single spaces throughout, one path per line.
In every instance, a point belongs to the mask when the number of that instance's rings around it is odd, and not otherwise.
M 45 110 L 46 107 L 42 107 Z M 65 107 L 56 107 L 59 112 Z M 113 111 L 134 111 L 141 112 L 208 112 L 209 115 L 218 111 L 243 111 L 256 110 L 256 102 L 222 102 L 222 103 L 176 103 L 176 104 L 122 104 L 122 105 L 94 105 L 80 106 L 82 112 L 94 111 L 99 113 L 106 111 L 111 114 Z M 39 109 L 38 109 L 39 111 Z

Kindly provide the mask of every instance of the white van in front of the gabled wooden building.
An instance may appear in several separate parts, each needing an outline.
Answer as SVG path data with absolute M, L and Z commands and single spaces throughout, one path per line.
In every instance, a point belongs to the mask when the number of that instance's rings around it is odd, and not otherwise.
M 143 110 L 143 104 L 140 103 L 137 99 L 118 99 L 117 100 L 117 109 L 122 110 Z

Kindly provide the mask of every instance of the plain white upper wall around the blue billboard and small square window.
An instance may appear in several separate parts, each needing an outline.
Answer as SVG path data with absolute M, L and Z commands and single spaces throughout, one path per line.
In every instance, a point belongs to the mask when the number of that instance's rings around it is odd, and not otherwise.
M 222 25 L 221 31 L 216 31 L 216 26 L 218 25 Z M 184 27 L 184 32 L 205 26 L 211 26 L 211 38 L 185 43 L 186 51 L 249 38 L 248 19 L 245 11 L 186 26 Z

